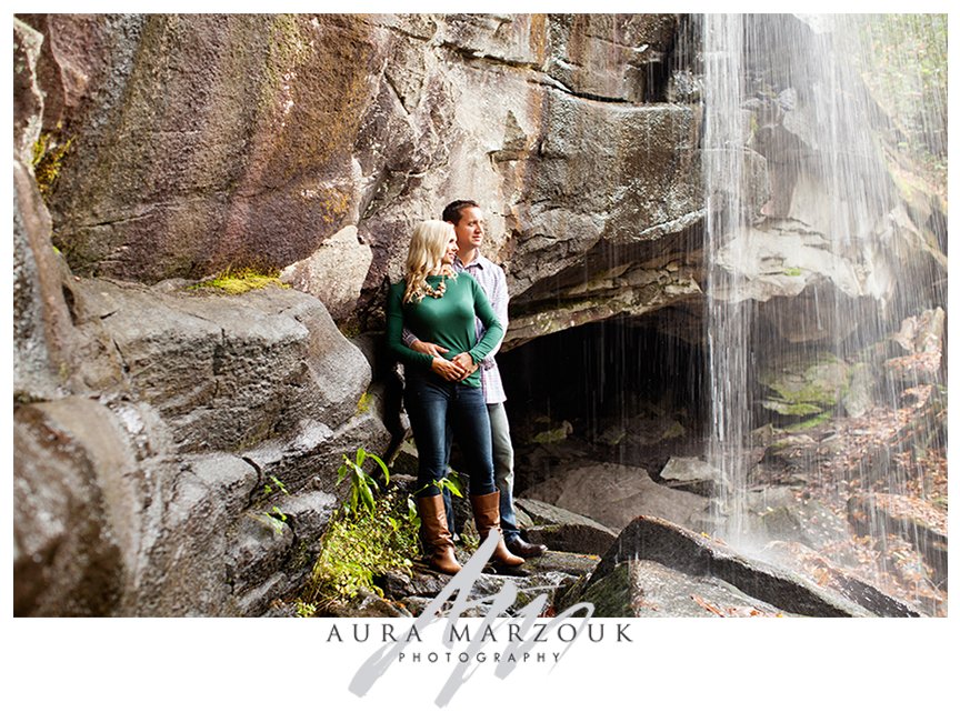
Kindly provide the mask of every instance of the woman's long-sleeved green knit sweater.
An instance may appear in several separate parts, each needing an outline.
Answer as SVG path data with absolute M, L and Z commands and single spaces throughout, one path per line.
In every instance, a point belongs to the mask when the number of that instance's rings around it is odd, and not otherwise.
M 468 352 L 474 363 L 480 363 L 503 338 L 503 325 L 497 320 L 490 301 L 480 284 L 469 273 L 457 278 L 429 275 L 427 282 L 434 289 L 441 280 L 447 282 L 442 298 L 424 295 L 419 302 L 403 303 L 407 282 L 400 281 L 390 287 L 387 299 L 387 345 L 390 352 L 404 364 L 430 370 L 433 357 L 418 353 L 403 343 L 403 327 L 410 329 L 421 341 L 429 341 L 449 349 L 443 354 L 452 360 L 458 353 Z M 477 339 L 479 318 L 486 327 L 481 339 Z M 480 387 L 478 369 L 461 383 Z

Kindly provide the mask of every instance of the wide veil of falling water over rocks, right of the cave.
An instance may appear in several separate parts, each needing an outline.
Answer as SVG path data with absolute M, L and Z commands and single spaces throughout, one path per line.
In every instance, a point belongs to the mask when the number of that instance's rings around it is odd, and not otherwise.
M 751 493 L 812 497 L 857 539 L 820 554 L 940 613 L 946 16 L 716 14 L 701 36 L 716 534 L 756 552 L 777 538 Z

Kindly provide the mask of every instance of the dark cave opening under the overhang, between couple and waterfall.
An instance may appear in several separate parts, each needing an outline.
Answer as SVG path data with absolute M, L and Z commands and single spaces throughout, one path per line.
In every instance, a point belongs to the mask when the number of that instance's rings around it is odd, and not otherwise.
M 498 354 L 517 491 L 558 465 L 641 467 L 700 457 L 709 423 L 696 310 L 668 308 L 574 327 Z

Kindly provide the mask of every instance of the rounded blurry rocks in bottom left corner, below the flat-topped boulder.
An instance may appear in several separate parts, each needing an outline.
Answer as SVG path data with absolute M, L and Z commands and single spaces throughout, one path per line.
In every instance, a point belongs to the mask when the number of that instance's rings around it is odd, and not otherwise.
M 17 409 L 14 614 L 259 615 L 296 595 L 338 498 L 174 449 L 144 403 Z

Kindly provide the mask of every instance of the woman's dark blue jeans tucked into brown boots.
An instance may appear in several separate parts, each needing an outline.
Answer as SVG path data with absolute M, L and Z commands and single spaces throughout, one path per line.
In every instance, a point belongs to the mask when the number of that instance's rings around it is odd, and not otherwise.
M 463 452 L 466 471 L 470 475 L 470 494 L 497 491 L 490 418 L 481 389 L 447 381 L 431 371 L 410 369 L 403 402 L 417 443 L 417 497 L 440 493 L 433 482 L 447 475 L 450 433 Z

